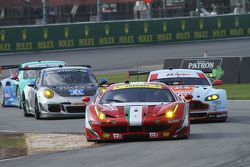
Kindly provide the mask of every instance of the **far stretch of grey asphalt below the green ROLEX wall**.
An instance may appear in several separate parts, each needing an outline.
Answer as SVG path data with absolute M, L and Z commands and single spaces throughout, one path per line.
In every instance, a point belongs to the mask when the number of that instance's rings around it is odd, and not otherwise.
M 37 60 L 64 60 L 69 64 L 90 64 L 93 71 L 130 69 L 139 65 L 162 64 L 166 57 L 250 56 L 250 38 L 210 42 L 173 43 L 123 48 L 82 49 L 48 53 L 0 55 L 0 65 Z

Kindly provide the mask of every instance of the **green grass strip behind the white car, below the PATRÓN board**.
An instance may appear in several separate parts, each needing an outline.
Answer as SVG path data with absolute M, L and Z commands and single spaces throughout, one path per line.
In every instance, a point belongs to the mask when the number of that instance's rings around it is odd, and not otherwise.
M 96 75 L 98 81 L 107 78 L 109 83 L 130 81 L 146 81 L 147 75 L 128 77 L 127 72 Z M 250 84 L 223 84 L 216 86 L 217 89 L 225 89 L 229 100 L 250 100 Z

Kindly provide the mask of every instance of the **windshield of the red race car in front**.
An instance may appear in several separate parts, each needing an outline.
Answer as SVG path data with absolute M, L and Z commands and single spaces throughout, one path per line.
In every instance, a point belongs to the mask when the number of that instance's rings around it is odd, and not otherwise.
M 100 104 L 127 102 L 173 102 L 174 96 L 168 89 L 129 88 L 106 92 Z

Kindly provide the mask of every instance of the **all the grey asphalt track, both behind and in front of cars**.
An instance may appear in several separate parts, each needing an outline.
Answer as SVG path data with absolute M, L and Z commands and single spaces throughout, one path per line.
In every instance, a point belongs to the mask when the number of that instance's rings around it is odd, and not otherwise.
M 33 60 L 91 64 L 93 71 L 162 64 L 165 57 L 250 56 L 250 39 L 98 50 L 1 55 L 0 65 Z M 2 75 L 1 77 L 3 77 Z M 17 108 L 0 107 L 0 130 L 84 133 L 84 119 L 35 120 Z M 191 125 L 187 140 L 104 143 L 94 148 L 0 161 L 1 167 L 247 167 L 250 166 L 250 103 L 230 101 L 225 123 Z

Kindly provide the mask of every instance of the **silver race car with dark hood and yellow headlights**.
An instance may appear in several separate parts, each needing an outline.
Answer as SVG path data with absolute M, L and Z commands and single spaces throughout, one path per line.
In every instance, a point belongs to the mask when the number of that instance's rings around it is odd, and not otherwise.
M 24 88 L 24 116 L 84 117 L 87 104 L 82 103 L 82 97 L 91 101 L 98 95 L 98 82 L 90 68 L 42 69 L 37 80 Z

